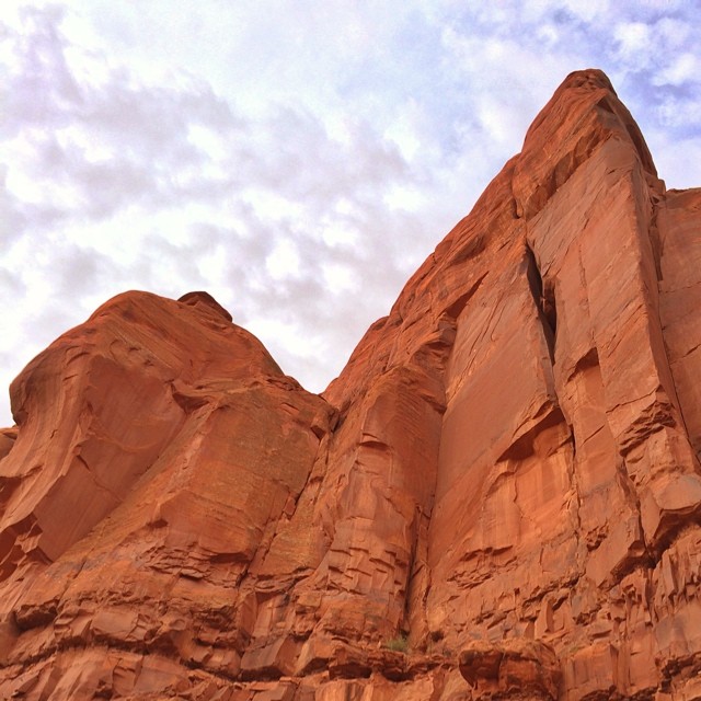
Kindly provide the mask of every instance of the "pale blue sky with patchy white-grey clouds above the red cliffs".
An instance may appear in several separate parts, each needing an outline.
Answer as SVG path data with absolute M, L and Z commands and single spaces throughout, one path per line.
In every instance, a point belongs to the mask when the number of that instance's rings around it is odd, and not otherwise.
M 699 36 L 701 0 L 2 0 L 0 426 L 128 289 L 209 291 L 322 391 L 573 70 L 701 185 Z

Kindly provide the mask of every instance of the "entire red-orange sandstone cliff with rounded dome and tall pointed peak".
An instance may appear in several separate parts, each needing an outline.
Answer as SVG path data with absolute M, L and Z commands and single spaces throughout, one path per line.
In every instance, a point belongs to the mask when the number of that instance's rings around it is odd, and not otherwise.
M 701 699 L 701 191 L 608 79 L 321 395 L 127 292 L 0 435 L 0 698 Z

